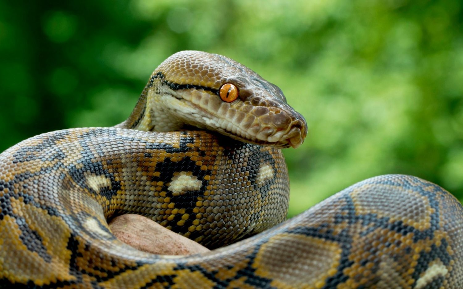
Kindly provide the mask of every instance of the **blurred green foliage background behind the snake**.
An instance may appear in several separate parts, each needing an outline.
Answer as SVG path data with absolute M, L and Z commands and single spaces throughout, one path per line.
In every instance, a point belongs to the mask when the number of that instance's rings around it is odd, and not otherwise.
M 289 215 L 365 178 L 419 176 L 463 200 L 460 0 L 0 2 L 0 151 L 111 126 L 184 49 L 280 86 L 309 133 L 287 149 Z

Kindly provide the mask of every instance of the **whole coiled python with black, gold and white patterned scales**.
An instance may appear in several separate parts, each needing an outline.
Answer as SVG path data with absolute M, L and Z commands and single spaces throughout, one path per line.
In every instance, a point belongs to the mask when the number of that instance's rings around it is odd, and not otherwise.
M 306 135 L 278 86 L 177 52 L 124 122 L 0 154 L 0 288 L 463 288 L 462 205 L 421 178 L 369 178 L 286 220 L 281 149 Z M 132 213 L 212 250 L 139 251 L 107 224 Z

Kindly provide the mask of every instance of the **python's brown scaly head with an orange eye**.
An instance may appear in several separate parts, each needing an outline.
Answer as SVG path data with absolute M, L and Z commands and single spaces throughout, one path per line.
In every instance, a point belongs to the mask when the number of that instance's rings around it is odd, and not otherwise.
M 306 120 L 278 86 L 222 55 L 175 53 L 156 68 L 145 93 L 150 127 L 143 129 L 193 125 L 277 148 L 297 148 L 307 135 Z

